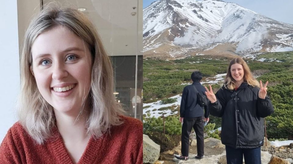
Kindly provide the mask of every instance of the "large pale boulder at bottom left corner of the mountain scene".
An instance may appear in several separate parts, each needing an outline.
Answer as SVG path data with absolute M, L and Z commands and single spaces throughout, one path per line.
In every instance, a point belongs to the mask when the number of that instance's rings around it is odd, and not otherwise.
M 143 134 L 143 163 L 155 163 L 160 156 L 160 145 Z

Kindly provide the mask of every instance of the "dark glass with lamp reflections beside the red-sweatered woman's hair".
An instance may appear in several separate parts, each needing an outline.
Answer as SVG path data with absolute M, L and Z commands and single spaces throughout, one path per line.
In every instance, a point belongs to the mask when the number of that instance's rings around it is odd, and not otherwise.
M 135 97 L 136 56 L 111 56 L 114 70 L 116 100 L 121 103 L 126 115 L 142 120 L 143 56 L 138 56 L 137 95 Z M 135 102 L 136 99 L 136 102 Z

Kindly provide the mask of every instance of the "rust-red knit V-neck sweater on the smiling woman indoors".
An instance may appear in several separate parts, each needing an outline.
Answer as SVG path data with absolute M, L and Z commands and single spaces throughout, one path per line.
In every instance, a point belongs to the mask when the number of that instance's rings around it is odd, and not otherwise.
M 78 164 L 143 163 L 142 122 L 122 116 L 124 123 L 111 128 L 102 138 L 89 139 Z M 72 164 L 62 138 L 50 138 L 42 145 L 16 122 L 8 131 L 0 147 L 0 163 Z

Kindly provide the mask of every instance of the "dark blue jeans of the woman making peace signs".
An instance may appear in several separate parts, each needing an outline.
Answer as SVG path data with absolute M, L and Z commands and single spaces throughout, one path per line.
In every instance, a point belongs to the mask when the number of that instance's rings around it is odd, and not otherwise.
M 251 149 L 234 149 L 226 146 L 227 164 L 242 164 L 243 155 L 245 163 L 261 164 L 260 147 Z

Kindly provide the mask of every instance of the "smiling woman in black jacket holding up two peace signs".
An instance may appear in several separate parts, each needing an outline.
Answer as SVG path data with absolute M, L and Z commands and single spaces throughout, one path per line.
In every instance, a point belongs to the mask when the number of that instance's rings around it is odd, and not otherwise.
M 260 83 L 260 84 L 259 84 Z M 213 93 L 206 88 L 209 111 L 222 117 L 221 141 L 226 145 L 227 164 L 261 164 L 264 118 L 273 113 L 273 105 L 263 86 L 252 76 L 245 61 L 230 61 L 224 85 Z

